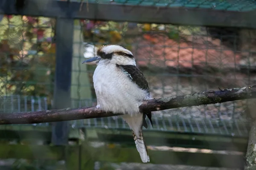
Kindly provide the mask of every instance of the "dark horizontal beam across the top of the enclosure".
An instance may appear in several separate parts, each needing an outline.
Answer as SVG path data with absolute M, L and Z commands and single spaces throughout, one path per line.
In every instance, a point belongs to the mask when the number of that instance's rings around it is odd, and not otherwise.
M 239 12 L 205 8 L 131 6 L 116 3 L 87 3 L 82 6 L 80 11 L 80 2 L 56 0 L 26 0 L 24 7 L 17 11 L 15 1 L 2 0 L 0 2 L 0 14 L 191 26 L 256 28 L 255 11 Z

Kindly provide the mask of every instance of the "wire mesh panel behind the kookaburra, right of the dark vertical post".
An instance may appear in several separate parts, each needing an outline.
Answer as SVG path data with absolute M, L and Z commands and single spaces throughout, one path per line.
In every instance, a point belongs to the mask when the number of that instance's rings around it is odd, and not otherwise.
M 84 40 L 80 39 L 80 44 L 84 44 L 85 52 L 79 57 L 93 57 L 96 48 L 103 44 L 124 46 L 134 54 L 154 98 L 235 88 L 254 82 L 250 45 L 253 37 L 241 36 L 239 29 L 90 20 L 82 23 Z M 241 44 L 244 41 L 247 45 Z M 87 66 L 86 70 L 84 67 L 73 69 L 89 79 L 82 84 L 82 76 L 76 82 L 80 81 L 78 87 L 90 87 L 92 101 L 79 99 L 79 105 L 73 103 L 73 107 L 90 106 L 88 102 L 96 105 L 92 82 L 95 67 Z M 78 94 L 85 93 L 79 90 Z M 147 130 L 247 136 L 245 106 L 243 100 L 158 111 L 153 113 L 154 127 L 149 126 Z M 122 119 L 111 117 L 73 121 L 73 127 L 129 128 Z

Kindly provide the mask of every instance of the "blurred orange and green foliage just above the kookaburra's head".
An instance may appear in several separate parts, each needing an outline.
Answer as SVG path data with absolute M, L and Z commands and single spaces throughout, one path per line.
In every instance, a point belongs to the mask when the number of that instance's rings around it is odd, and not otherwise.
M 191 29 L 188 26 L 181 27 L 154 23 L 116 23 L 113 21 L 93 20 L 81 20 L 81 23 L 84 42 L 94 42 L 97 47 L 103 44 L 120 44 L 125 45 L 125 48 L 129 50 L 131 50 L 131 45 L 134 43 L 132 40 L 134 37 L 141 36 L 150 42 L 154 42 L 148 35 L 158 33 L 166 34 L 170 39 L 178 41 L 180 34 L 197 34 L 201 31 L 200 27 Z

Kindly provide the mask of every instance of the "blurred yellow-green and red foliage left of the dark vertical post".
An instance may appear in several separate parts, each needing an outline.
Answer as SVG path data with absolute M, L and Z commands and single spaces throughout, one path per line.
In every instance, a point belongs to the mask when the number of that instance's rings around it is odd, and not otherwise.
M 0 21 L 0 95 L 52 95 L 53 19 L 5 15 Z

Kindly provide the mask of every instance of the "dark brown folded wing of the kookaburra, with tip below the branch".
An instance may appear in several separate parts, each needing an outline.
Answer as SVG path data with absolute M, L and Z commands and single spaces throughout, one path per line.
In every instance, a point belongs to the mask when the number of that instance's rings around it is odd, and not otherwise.
M 136 83 L 143 90 L 146 90 L 148 92 L 148 96 L 149 96 L 148 82 L 145 79 L 143 73 L 140 71 L 139 68 L 137 68 L 134 65 L 116 65 L 116 67 L 121 68 L 122 71 L 124 71 L 127 74 L 127 76 L 131 79 L 131 81 Z M 143 124 L 142 125 L 145 128 L 148 128 L 148 124 L 145 120 L 146 116 L 148 116 L 148 119 L 153 127 L 153 123 L 151 120 L 151 112 L 143 113 Z

